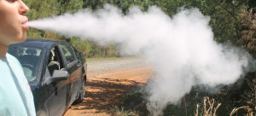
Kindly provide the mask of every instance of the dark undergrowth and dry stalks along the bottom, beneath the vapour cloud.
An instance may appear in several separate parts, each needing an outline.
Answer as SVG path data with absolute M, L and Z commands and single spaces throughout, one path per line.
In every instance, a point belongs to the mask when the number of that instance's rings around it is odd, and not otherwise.
M 247 80 L 248 81 L 248 80 Z M 202 86 L 194 87 L 177 104 L 164 109 L 164 116 L 255 116 L 256 86 L 247 82 L 249 90 L 230 90 L 224 87 L 212 94 Z M 254 88 L 253 88 L 254 87 Z M 143 88 L 143 87 L 142 87 Z M 119 100 L 119 105 L 110 107 L 114 116 L 148 116 L 147 93 L 137 88 Z

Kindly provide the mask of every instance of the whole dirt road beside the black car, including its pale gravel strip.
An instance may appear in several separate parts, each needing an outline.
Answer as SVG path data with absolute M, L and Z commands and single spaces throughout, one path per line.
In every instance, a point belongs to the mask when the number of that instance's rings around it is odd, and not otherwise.
M 108 116 L 125 93 L 146 83 L 153 74 L 143 59 L 88 62 L 84 102 L 73 105 L 65 116 Z

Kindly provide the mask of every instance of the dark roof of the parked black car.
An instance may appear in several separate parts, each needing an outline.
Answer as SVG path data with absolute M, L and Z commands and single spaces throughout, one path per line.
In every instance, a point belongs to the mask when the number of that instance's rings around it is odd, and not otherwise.
M 50 48 L 52 44 L 63 44 L 65 41 L 51 38 L 26 38 L 25 42 L 14 44 L 14 45 L 33 45 L 41 46 L 44 48 Z

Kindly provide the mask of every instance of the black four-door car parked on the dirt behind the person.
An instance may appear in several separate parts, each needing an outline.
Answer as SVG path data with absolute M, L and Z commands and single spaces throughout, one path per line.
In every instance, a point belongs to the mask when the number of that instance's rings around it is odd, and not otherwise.
M 73 102 L 82 102 L 87 65 L 84 55 L 67 42 L 27 38 L 9 46 L 23 67 L 32 89 L 37 115 L 63 115 Z

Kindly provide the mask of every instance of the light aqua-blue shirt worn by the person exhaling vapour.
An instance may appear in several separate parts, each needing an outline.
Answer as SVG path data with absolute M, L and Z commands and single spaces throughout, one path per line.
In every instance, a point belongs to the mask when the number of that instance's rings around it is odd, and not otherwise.
M 0 116 L 35 116 L 32 91 L 20 66 L 12 55 L 0 58 Z

